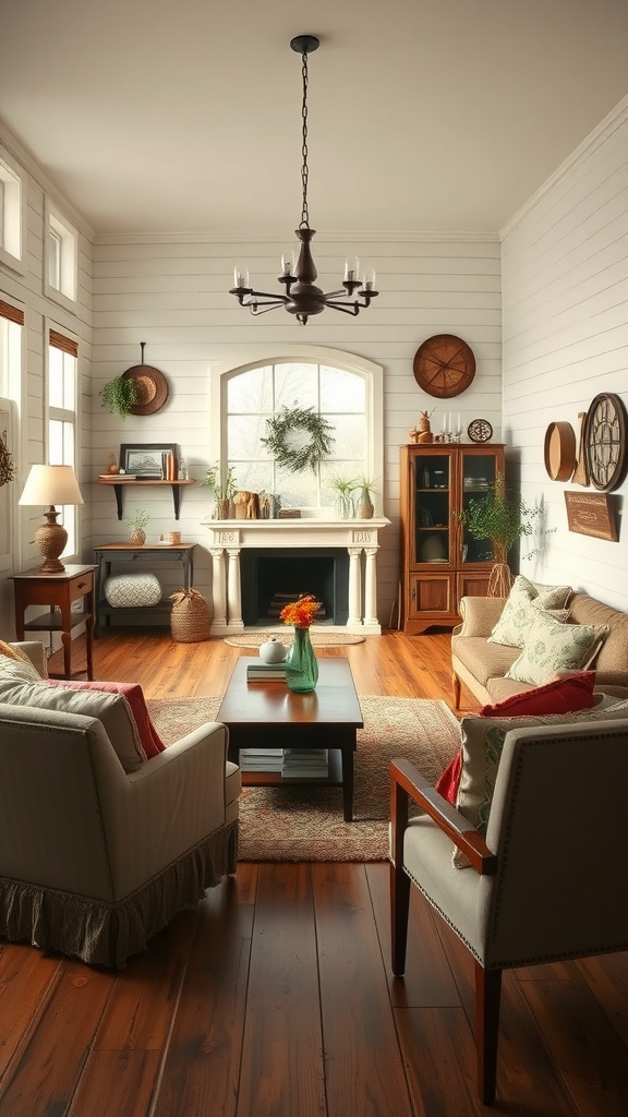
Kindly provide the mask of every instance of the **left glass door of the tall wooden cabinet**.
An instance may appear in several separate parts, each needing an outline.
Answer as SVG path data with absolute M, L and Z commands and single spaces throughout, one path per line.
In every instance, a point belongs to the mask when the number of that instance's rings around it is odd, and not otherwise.
M 413 562 L 435 566 L 449 564 L 456 526 L 451 523 L 451 455 L 435 449 L 434 454 L 417 456 L 413 481 Z

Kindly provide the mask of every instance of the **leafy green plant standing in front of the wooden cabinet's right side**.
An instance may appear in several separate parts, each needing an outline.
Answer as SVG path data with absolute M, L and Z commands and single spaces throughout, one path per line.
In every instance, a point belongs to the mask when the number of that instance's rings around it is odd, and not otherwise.
M 508 554 L 523 535 L 532 535 L 541 505 L 531 508 L 522 497 L 507 489 L 497 474 L 486 495 L 472 498 L 458 516 L 459 523 L 474 540 L 491 540 L 494 565 L 488 580 L 488 596 L 507 598 L 512 586 Z

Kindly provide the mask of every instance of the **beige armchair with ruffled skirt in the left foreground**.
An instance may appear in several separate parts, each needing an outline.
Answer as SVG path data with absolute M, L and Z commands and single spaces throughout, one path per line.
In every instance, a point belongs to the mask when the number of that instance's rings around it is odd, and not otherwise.
M 45 674 L 40 646 L 16 647 Z M 96 717 L 0 703 L 0 936 L 122 967 L 235 871 L 227 728 L 202 725 L 131 772 L 121 744 Z

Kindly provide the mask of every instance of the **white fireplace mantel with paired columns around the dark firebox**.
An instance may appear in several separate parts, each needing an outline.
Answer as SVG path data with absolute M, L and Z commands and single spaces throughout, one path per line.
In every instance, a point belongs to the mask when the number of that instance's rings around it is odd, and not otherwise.
M 240 584 L 242 547 L 346 547 L 349 552 L 349 620 L 330 628 L 381 634 L 377 615 L 377 554 L 379 532 L 388 527 L 386 516 L 373 519 L 203 519 L 210 533 L 212 561 L 212 636 L 232 636 L 244 630 Z

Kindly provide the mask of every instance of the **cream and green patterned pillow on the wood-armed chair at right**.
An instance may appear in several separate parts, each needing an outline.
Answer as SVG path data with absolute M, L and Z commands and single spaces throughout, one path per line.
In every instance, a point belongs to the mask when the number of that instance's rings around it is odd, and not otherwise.
M 506 734 L 511 729 L 530 729 L 536 725 L 583 725 L 589 722 L 628 719 L 628 699 L 612 701 L 606 695 L 593 709 L 571 714 L 536 717 L 483 718 L 464 717 L 460 722 L 462 773 L 456 808 L 479 831 L 486 833 L 497 768 Z M 467 868 L 469 862 L 454 849 L 454 865 Z

